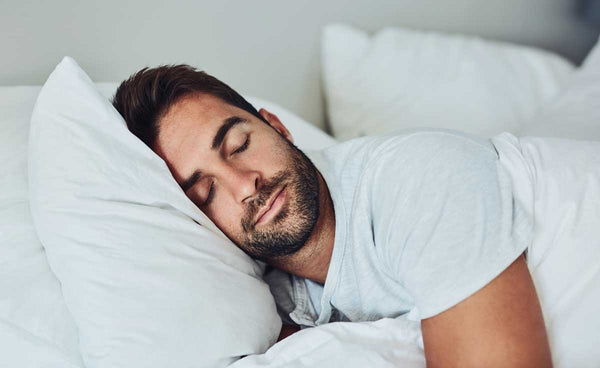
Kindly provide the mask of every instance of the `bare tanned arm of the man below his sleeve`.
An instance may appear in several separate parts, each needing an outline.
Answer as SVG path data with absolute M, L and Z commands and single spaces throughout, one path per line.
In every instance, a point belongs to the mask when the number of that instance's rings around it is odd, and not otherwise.
M 523 256 L 483 289 L 421 321 L 427 367 L 551 367 L 535 287 Z

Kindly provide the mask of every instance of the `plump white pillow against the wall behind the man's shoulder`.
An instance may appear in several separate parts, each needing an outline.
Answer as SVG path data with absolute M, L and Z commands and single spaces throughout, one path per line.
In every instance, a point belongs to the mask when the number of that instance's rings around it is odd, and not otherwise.
M 516 133 L 571 75 L 563 58 L 476 37 L 387 28 L 323 32 L 330 127 L 348 139 L 394 129 Z

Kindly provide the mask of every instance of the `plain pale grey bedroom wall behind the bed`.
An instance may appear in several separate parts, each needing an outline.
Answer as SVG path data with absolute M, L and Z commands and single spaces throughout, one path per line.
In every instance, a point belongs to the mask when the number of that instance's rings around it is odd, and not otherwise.
M 43 84 L 62 56 L 96 81 L 188 63 L 323 127 L 319 32 L 407 26 L 547 48 L 579 63 L 598 30 L 576 0 L 0 0 L 0 85 Z

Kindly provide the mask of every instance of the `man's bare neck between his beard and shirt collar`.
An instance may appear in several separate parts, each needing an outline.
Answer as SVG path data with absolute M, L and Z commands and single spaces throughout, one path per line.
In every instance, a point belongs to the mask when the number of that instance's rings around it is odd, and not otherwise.
M 319 218 L 308 241 L 291 256 L 269 263 L 288 273 L 324 284 L 335 239 L 335 213 L 327 184 L 321 173 L 318 175 Z

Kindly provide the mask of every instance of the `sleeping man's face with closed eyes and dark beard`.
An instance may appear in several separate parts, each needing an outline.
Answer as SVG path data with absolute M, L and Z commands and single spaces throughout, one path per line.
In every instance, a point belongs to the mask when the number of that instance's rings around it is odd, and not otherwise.
M 207 94 L 160 120 L 155 151 L 185 194 L 249 255 L 276 259 L 308 240 L 319 217 L 316 168 L 279 119 L 270 125 Z

